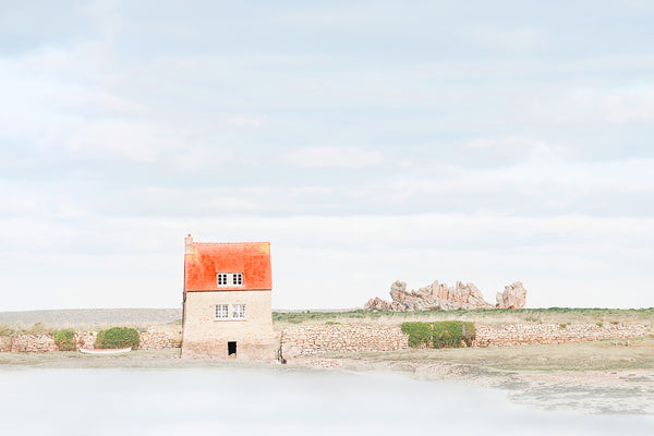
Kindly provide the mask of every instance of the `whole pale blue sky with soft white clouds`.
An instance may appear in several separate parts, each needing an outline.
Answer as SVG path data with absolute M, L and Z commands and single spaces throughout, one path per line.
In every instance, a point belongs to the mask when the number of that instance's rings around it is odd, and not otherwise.
M 654 306 L 654 2 L 0 0 L 0 311 L 277 308 L 395 280 Z

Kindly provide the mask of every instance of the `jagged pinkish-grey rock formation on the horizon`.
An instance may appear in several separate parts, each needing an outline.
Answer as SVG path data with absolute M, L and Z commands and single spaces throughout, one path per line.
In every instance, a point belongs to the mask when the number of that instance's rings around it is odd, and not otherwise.
M 475 308 L 523 308 L 526 290 L 517 281 L 505 287 L 504 293 L 497 293 L 497 304 L 494 306 L 484 301 L 480 290 L 473 284 L 457 281 L 453 287 L 434 281 L 417 291 L 407 291 L 407 283 L 396 281 L 390 286 L 391 301 L 379 298 L 371 299 L 363 306 L 367 311 L 452 311 Z

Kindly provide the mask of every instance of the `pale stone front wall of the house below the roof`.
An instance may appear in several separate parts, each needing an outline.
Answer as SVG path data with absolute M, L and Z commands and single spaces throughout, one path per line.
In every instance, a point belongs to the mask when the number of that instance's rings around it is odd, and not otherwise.
M 270 291 L 186 292 L 182 358 L 228 359 L 227 343 L 237 342 L 238 360 L 274 361 Z M 245 304 L 245 319 L 216 319 L 216 304 Z

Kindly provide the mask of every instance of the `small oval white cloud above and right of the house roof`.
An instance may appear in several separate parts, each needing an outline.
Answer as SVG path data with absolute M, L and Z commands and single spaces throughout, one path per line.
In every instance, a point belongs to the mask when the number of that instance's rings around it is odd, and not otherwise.
M 379 152 L 347 147 L 300 148 L 288 154 L 287 158 L 303 168 L 363 168 L 383 161 Z

